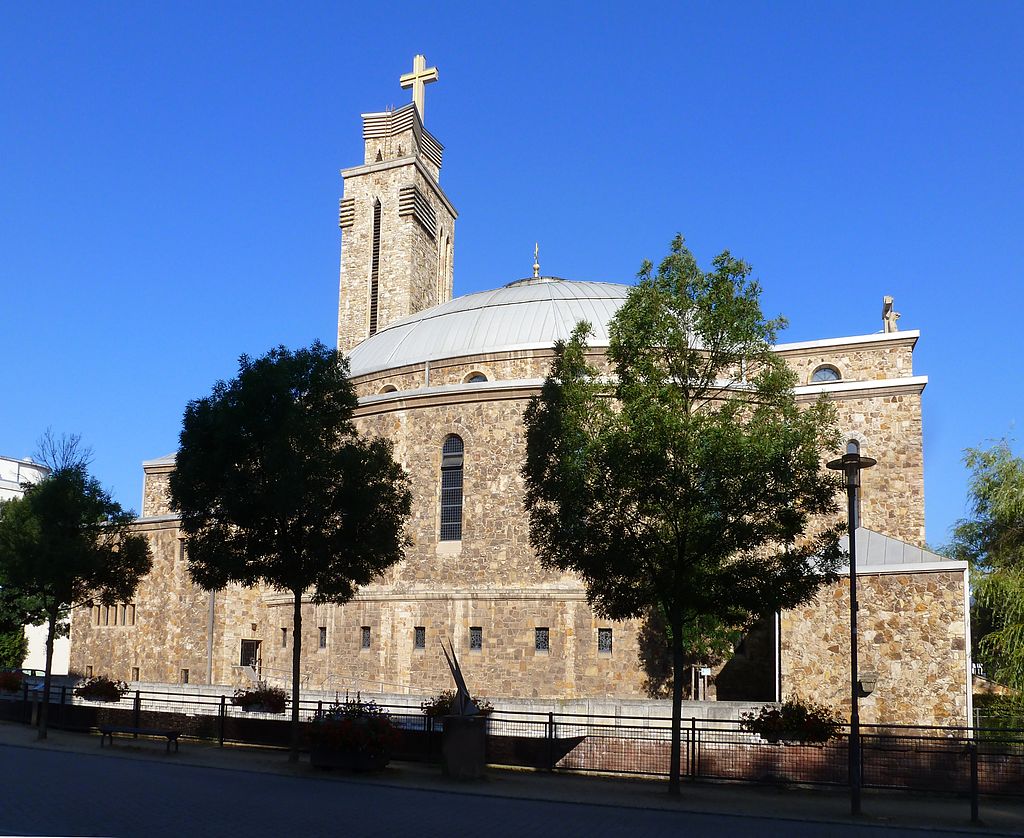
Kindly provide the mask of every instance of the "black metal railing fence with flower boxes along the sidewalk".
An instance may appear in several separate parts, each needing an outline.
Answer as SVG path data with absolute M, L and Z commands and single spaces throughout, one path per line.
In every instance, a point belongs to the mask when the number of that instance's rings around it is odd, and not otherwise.
M 32 723 L 41 697 L 26 686 L 0 697 L 0 719 Z M 325 709 L 302 701 L 300 718 Z M 417 707 L 384 706 L 399 730 L 392 757 L 440 757 L 443 720 Z M 57 728 L 102 725 L 178 729 L 185 737 L 284 747 L 290 713 L 250 712 L 225 696 L 135 690 L 120 702 L 83 702 L 70 687 L 50 695 L 49 723 Z M 736 721 L 684 719 L 681 774 L 690 781 L 844 786 L 849 783 L 847 737 L 824 744 L 771 743 Z M 861 725 L 864 788 L 1024 795 L 1024 729 Z M 668 777 L 668 719 L 496 711 L 487 720 L 487 761 L 553 771 Z

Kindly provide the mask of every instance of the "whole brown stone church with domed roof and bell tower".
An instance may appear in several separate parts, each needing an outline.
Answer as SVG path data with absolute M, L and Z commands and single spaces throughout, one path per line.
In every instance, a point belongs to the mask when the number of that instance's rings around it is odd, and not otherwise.
M 439 642 L 451 639 L 479 695 L 642 698 L 638 626 L 597 617 L 578 579 L 540 567 L 519 474 L 522 413 L 554 340 L 586 319 L 593 361 L 605 363 L 606 324 L 629 288 L 543 277 L 535 265 L 534 277 L 453 298 L 457 213 L 439 184 L 442 146 L 422 119 L 431 73 L 418 59 L 402 77 L 414 102 L 362 116 L 365 160 L 342 172 L 339 215 L 338 344 L 360 397 L 360 432 L 390 437 L 411 478 L 413 543 L 349 603 L 304 606 L 304 685 L 433 694 L 450 686 Z M 887 324 L 776 350 L 799 376 L 798 399 L 827 393 L 847 438 L 879 461 L 863 475 L 858 539 L 860 667 L 878 676 L 862 719 L 966 723 L 966 568 L 922 549 L 927 379 L 913 372 L 919 333 Z M 168 499 L 173 468 L 173 455 L 143 464 L 136 527 L 151 540 L 153 571 L 134 602 L 75 613 L 73 669 L 239 685 L 255 668 L 285 682 L 289 595 L 191 584 Z M 767 624 L 769 680 L 742 698 L 799 695 L 848 712 L 846 583 Z

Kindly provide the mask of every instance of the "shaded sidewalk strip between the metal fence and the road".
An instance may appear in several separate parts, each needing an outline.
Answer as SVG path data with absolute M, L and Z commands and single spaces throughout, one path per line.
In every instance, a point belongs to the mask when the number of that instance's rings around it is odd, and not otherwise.
M 482 795 L 525 800 L 587 803 L 626 808 L 666 809 L 711 814 L 781 818 L 821 824 L 860 823 L 865 826 L 963 830 L 987 835 L 1024 835 L 1024 798 L 982 798 L 980 826 L 970 821 L 967 798 L 896 792 L 866 791 L 864 815 L 849 815 L 845 790 L 785 789 L 746 785 L 686 784 L 678 799 L 670 798 L 665 781 L 630 780 L 586 774 L 547 773 L 490 768 L 486 780 L 458 783 L 444 778 L 437 765 L 397 762 L 373 776 L 326 772 L 307 761 L 291 764 L 284 751 L 183 740 L 179 753 L 165 754 L 163 740 L 120 738 L 100 749 L 99 736 L 51 730 L 45 742 L 34 728 L 0 722 L 0 745 L 42 748 L 48 751 L 102 754 L 112 759 L 155 760 L 232 771 L 258 771 L 295 777 L 315 777 L 339 783 L 422 789 L 450 794 Z

